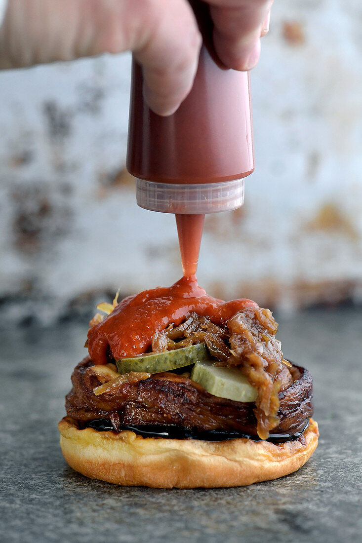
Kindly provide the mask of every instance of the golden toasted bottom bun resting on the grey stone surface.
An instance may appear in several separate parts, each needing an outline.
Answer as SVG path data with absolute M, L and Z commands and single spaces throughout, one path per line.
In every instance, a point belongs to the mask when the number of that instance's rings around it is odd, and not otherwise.
M 277 479 L 307 462 L 319 436 L 313 419 L 301 437 L 282 444 L 245 438 L 143 438 L 128 430 L 79 430 L 77 422 L 67 416 L 58 428 L 61 450 L 73 470 L 109 483 L 152 488 L 242 487 Z

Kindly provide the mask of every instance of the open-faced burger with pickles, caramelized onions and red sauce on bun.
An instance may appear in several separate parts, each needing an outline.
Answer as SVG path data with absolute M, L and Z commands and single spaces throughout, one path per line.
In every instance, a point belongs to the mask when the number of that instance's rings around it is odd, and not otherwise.
M 195 277 L 100 304 L 59 422 L 83 475 L 154 488 L 237 487 L 313 454 L 310 372 L 283 357 L 272 313 Z

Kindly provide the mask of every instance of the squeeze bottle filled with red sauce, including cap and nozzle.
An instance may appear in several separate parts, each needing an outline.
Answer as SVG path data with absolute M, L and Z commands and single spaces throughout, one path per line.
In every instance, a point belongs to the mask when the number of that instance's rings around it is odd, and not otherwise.
M 161 117 L 143 99 L 142 68 L 133 61 L 127 149 L 138 205 L 176 214 L 185 276 L 196 273 L 204 214 L 240 207 L 254 169 L 249 73 L 221 65 L 207 8 L 192 5 L 204 38 L 194 86 Z

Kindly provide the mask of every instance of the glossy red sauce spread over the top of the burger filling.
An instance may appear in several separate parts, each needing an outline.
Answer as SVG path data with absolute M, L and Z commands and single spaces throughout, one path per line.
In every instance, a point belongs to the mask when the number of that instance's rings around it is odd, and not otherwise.
M 224 326 L 246 307 L 258 304 L 247 299 L 218 300 L 198 286 L 195 275 L 184 276 L 172 287 L 157 287 L 124 298 L 102 323 L 89 330 L 89 355 L 96 365 L 109 362 L 109 351 L 115 359 L 141 355 L 151 346 L 155 332 L 170 323 L 181 324 L 191 312 Z

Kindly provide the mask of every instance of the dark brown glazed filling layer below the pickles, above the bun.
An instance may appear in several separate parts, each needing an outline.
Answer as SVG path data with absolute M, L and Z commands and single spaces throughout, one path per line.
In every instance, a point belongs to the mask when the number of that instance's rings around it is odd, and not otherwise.
M 164 372 L 96 396 L 93 389 L 104 381 L 92 370 L 86 357 L 73 371 L 72 390 L 66 396 L 67 415 L 86 424 L 109 419 L 115 431 L 122 425 L 178 426 L 205 432 L 237 430 L 257 435 L 255 403 L 242 403 L 213 396 L 190 378 Z M 313 414 L 312 380 L 308 370 L 293 366 L 294 382 L 279 392 L 279 423 L 273 433 L 293 434 L 303 430 Z

